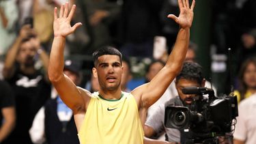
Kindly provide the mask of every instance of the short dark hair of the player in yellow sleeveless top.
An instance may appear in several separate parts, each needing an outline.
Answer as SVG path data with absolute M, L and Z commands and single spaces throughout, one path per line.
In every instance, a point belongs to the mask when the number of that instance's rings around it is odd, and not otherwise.
M 92 54 L 92 58 L 94 60 L 94 66 L 97 66 L 98 63 L 98 57 L 102 55 L 117 55 L 120 59 L 120 62 L 122 64 L 122 53 L 120 53 L 117 48 L 114 48 L 112 46 L 103 46 L 102 48 L 99 48 Z

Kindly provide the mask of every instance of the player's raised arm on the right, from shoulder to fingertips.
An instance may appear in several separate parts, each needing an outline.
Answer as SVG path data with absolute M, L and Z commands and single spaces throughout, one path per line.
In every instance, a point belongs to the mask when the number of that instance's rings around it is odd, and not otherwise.
M 182 69 L 189 44 L 190 27 L 193 22 L 195 0 L 193 0 L 191 7 L 189 6 L 188 0 L 178 0 L 178 4 L 180 8 L 179 17 L 176 17 L 173 14 L 168 15 L 168 18 L 172 18 L 180 25 L 180 31 L 177 34 L 173 51 L 169 55 L 165 67 L 156 74 L 150 83 L 132 91 L 139 107 L 143 106 L 148 108 L 154 104 Z

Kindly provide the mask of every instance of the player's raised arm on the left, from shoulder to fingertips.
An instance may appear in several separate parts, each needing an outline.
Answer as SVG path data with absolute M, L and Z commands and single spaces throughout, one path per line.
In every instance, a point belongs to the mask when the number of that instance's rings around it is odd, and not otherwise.
M 81 23 L 76 23 L 73 27 L 70 26 L 70 20 L 74 15 L 75 9 L 76 5 L 72 5 L 69 12 L 68 3 L 61 5 L 59 18 L 57 17 L 57 8 L 54 10 L 54 40 L 48 67 L 48 76 L 50 81 L 53 83 L 55 89 L 57 89 L 57 92 L 63 102 L 72 109 L 74 114 L 78 113 L 80 110 L 85 110 L 85 95 L 87 94 L 82 89 L 76 87 L 70 78 L 63 74 L 63 50 L 66 42 L 66 36 L 73 33 L 77 27 L 82 25 Z

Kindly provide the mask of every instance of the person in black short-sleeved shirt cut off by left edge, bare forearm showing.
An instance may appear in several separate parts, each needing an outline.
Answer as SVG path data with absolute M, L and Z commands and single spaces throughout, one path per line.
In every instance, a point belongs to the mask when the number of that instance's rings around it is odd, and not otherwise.
M 0 143 L 3 143 L 15 127 L 16 113 L 12 88 L 2 80 L 0 80 L 0 93 Z

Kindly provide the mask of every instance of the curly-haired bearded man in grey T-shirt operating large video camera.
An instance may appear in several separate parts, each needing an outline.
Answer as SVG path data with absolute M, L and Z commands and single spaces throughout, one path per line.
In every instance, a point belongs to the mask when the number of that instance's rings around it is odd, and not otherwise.
M 166 140 L 172 142 L 183 142 L 183 136 L 180 136 L 180 131 L 173 128 L 165 127 L 165 108 L 166 106 L 190 106 L 193 102 L 195 94 L 184 94 L 184 87 L 204 87 L 205 78 L 203 78 L 202 67 L 195 62 L 185 62 L 182 71 L 177 75 L 175 86 L 178 96 L 172 98 L 165 104 L 159 105 L 158 109 L 147 118 L 144 126 L 145 136 L 152 137 L 156 134 L 166 132 Z M 181 139 L 182 138 L 182 139 Z

